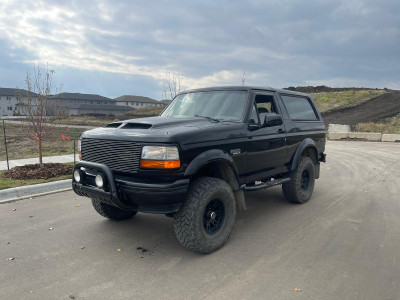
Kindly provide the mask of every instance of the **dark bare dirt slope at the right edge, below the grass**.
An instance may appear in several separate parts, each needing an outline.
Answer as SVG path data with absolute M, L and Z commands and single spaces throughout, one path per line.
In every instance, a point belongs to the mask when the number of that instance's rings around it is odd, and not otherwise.
M 400 113 L 400 92 L 392 91 L 368 100 L 360 105 L 341 108 L 322 114 L 325 124 L 377 122 Z

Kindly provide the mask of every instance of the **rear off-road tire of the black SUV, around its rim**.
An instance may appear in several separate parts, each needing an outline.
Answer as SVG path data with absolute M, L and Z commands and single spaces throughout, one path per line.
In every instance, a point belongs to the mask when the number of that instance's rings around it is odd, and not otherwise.
M 306 189 L 302 188 L 303 172 L 309 176 L 309 184 Z M 290 172 L 290 181 L 282 185 L 285 199 L 292 203 L 303 204 L 310 200 L 314 191 L 315 169 L 311 158 L 301 156 L 297 169 Z

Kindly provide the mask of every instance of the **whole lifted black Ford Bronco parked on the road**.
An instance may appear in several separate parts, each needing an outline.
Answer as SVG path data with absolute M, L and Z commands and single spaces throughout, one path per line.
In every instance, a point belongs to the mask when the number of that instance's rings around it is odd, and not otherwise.
M 246 191 L 282 185 L 307 202 L 325 162 L 325 126 L 303 93 L 258 87 L 185 91 L 158 117 L 86 131 L 72 186 L 112 220 L 173 217 L 179 242 L 224 245 Z

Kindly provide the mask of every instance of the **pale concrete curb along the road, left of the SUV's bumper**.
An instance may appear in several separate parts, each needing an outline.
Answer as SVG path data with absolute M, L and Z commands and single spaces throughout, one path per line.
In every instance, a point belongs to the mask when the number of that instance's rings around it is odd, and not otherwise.
M 71 179 L 4 189 L 0 191 L 0 204 L 68 191 L 71 189 Z

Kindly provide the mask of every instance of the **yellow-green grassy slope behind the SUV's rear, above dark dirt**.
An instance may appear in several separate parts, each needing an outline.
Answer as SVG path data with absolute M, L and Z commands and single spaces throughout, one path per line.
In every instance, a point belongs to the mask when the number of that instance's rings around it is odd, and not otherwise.
M 312 93 L 320 112 L 359 105 L 369 99 L 386 93 L 384 90 L 352 90 L 343 92 Z

